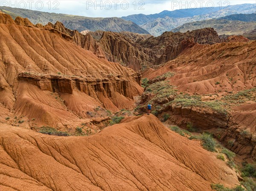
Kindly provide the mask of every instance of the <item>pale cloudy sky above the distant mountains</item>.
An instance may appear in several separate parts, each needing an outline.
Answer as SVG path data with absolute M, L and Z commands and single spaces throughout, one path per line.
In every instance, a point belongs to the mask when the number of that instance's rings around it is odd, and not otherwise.
M 74 14 L 86 17 L 122 17 L 130 14 L 154 14 L 164 10 L 194 9 L 212 6 L 255 3 L 255 0 L 0 0 L 0 6 Z

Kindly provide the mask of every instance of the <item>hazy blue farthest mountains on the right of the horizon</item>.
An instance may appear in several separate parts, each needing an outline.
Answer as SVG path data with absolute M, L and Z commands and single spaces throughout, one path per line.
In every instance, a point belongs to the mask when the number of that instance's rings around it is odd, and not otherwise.
M 243 9 L 241 9 L 241 7 L 243 7 Z M 146 18 L 145 20 L 147 22 L 145 23 L 142 23 L 141 21 L 136 20 L 135 18 L 137 18 L 137 15 L 131 15 L 131 16 L 122 17 L 122 18 L 126 20 L 131 20 L 134 23 L 139 24 L 143 29 L 148 31 L 153 36 L 159 36 L 165 31 L 171 31 L 172 29 L 175 29 L 189 22 L 220 18 L 220 17 L 231 15 L 231 14 L 237 14 L 237 13 L 251 14 L 255 12 L 256 6 L 254 4 L 243 4 L 239 6 L 238 5 L 230 6 L 228 10 L 219 9 L 219 8 L 214 8 L 212 10 L 203 8 L 201 11 L 200 10 L 201 9 L 196 9 L 195 12 L 192 12 L 192 10 L 175 10 L 175 11 L 163 11 L 162 13 L 157 15 L 145 15 L 145 16 L 140 15 L 141 18 L 143 19 Z M 238 15 L 237 17 L 241 17 L 241 15 Z M 223 19 L 226 19 L 226 18 L 223 18 Z M 242 20 L 242 21 L 246 21 L 246 20 Z M 254 19 L 254 22 L 255 21 L 256 20 Z M 208 27 L 213 27 L 213 26 L 208 26 Z M 190 29 L 190 30 L 193 30 L 193 29 Z

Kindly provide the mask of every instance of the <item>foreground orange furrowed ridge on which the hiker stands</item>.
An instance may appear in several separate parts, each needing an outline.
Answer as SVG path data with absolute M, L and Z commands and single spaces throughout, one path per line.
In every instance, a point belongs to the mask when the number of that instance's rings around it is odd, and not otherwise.
M 238 184 L 224 161 L 157 117 L 129 117 L 90 137 L 1 124 L 1 190 L 210 191 Z

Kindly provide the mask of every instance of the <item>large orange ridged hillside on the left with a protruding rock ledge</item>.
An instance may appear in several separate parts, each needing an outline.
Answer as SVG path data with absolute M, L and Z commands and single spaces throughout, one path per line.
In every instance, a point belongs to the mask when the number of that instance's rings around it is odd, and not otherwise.
M 7 14 L 0 22 L 1 121 L 25 116 L 63 127 L 96 107 L 131 109 L 142 94 L 139 73 L 96 57 L 71 37 Z

